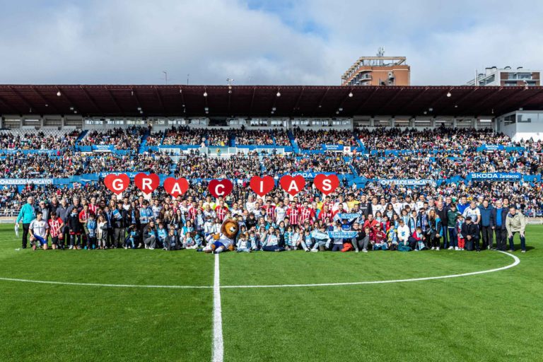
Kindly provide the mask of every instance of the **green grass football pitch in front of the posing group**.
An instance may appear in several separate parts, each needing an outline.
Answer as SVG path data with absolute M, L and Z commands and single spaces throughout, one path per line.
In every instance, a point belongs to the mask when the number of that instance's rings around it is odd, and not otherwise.
M 214 255 L 19 250 L 5 225 L 0 361 L 541 361 L 543 226 L 527 253 L 515 242 L 514 257 L 228 252 L 217 279 Z

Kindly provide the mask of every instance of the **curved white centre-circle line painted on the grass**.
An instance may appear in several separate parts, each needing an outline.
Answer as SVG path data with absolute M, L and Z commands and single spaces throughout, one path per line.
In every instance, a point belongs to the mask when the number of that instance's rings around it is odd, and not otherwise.
M 452 274 L 452 275 L 443 275 L 443 276 L 428 276 L 424 278 L 414 278 L 414 279 L 398 279 L 398 280 L 378 280 L 378 281 L 354 281 L 348 283 L 321 283 L 321 284 L 277 284 L 277 285 L 263 285 L 263 286 L 218 286 L 218 288 L 293 288 L 301 286 L 356 286 L 360 284 L 387 284 L 387 283 L 403 283 L 405 281 L 425 281 L 433 279 L 448 279 L 448 278 L 458 278 L 460 276 L 470 276 L 477 274 L 486 274 L 494 273 L 494 271 L 501 271 L 516 267 L 520 263 L 520 259 L 515 255 L 509 254 L 508 252 L 502 252 L 502 254 L 512 257 L 515 262 L 512 264 L 506 265 L 505 267 L 481 270 L 481 271 L 472 271 L 464 274 Z M 216 263 L 216 268 L 218 268 L 218 262 Z M 218 272 L 216 273 L 218 275 Z M 0 280 L 5 281 L 21 281 L 25 283 L 38 283 L 38 284 L 59 284 L 66 286 L 107 286 L 107 287 L 118 287 L 118 288 L 171 288 L 171 289 L 209 289 L 215 288 L 215 286 L 139 286 L 134 284 L 98 284 L 98 283 L 71 283 L 65 281 L 41 281 L 41 280 L 30 280 L 30 279 L 16 279 L 16 278 L 1 278 Z M 218 284 L 218 283 L 217 283 Z M 220 298 L 219 298 L 220 300 Z M 220 304 L 219 304 L 220 307 Z

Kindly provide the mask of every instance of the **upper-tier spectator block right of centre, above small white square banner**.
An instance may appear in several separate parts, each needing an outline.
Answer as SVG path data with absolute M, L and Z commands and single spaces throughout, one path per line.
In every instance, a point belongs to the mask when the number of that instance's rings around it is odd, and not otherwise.
M 300 149 L 320 150 L 322 144 L 339 144 L 341 146 L 358 146 L 352 131 L 302 130 L 299 127 L 294 129 L 294 139 Z

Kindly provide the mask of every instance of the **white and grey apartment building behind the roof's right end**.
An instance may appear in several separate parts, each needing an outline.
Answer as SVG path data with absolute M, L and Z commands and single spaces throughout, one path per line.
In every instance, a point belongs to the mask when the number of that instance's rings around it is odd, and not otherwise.
M 496 66 L 490 66 L 484 69 L 484 73 L 477 74 L 477 78 L 467 82 L 468 86 L 541 86 L 541 71 L 530 71 L 519 66 L 517 69 L 511 69 L 506 66 L 498 69 Z

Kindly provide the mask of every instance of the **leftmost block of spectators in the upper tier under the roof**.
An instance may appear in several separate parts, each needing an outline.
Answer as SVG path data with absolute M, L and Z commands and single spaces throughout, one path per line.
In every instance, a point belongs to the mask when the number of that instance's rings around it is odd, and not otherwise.
M 66 134 L 56 132 L 0 133 L 0 149 L 16 150 L 64 150 L 74 147 L 78 131 Z

